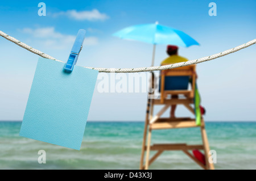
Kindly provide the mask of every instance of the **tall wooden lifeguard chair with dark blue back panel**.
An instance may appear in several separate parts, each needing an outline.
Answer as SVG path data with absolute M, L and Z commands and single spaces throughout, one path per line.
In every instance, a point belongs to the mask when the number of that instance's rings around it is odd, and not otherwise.
M 155 87 L 155 75 L 152 73 L 151 83 L 152 88 Z M 191 88 L 188 89 L 188 84 L 191 82 Z M 148 96 L 146 121 L 144 125 L 144 134 L 142 142 L 142 154 L 140 169 L 148 169 L 150 164 L 159 157 L 165 150 L 181 150 L 195 161 L 203 169 L 214 169 L 213 163 L 209 160 L 209 144 L 207 133 L 205 131 L 205 124 L 200 110 L 195 106 L 199 106 L 197 87 L 196 87 L 196 65 L 183 66 L 175 69 L 162 70 L 159 83 L 160 98 L 151 99 Z M 153 92 L 149 93 L 153 94 Z M 170 95 L 178 95 L 177 99 L 171 99 Z M 180 98 L 183 95 L 183 98 Z M 200 98 L 199 98 L 200 99 Z M 195 103 L 197 102 L 197 105 Z M 163 113 L 173 104 L 183 104 L 195 117 L 167 117 L 162 118 Z M 163 105 L 156 115 L 153 115 L 154 106 Z M 197 110 L 197 111 L 195 111 Z M 199 111 L 198 111 L 199 110 Z M 153 144 L 151 145 L 152 131 L 155 129 L 174 129 L 174 128 L 195 128 L 200 127 L 203 144 L 201 145 L 187 145 L 187 144 Z M 150 151 L 157 151 L 154 156 L 150 158 Z M 191 150 L 201 153 L 201 160 L 192 154 Z M 146 152 L 146 160 L 144 161 L 144 153 Z M 203 157 L 202 157 L 203 156 Z M 202 160 L 203 158 L 203 160 Z

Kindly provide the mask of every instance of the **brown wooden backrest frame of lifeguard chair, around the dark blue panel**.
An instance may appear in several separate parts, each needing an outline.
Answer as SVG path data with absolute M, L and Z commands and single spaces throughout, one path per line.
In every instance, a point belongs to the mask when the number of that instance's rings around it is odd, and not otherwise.
M 187 76 L 190 77 L 192 80 L 191 90 L 165 90 L 166 87 L 166 78 L 167 77 L 183 77 Z M 181 66 L 175 69 L 168 69 L 161 71 L 161 81 L 160 81 L 160 93 L 161 93 L 161 102 L 164 102 L 166 95 L 179 95 L 184 94 L 188 98 L 194 97 L 195 92 L 195 85 L 196 85 L 196 65 L 188 65 L 188 66 Z

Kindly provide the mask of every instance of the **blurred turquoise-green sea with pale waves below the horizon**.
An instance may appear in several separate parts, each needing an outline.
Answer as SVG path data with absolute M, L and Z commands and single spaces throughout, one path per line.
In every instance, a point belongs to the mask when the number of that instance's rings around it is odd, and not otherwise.
M 143 122 L 88 121 L 81 150 L 19 136 L 21 122 L 0 121 L 0 169 L 139 169 Z M 256 122 L 207 122 L 215 169 L 256 169 Z M 201 144 L 200 129 L 152 132 L 152 143 Z M 38 151 L 46 151 L 46 164 Z M 151 154 L 155 153 L 151 151 Z M 164 151 L 150 169 L 201 169 L 181 151 Z

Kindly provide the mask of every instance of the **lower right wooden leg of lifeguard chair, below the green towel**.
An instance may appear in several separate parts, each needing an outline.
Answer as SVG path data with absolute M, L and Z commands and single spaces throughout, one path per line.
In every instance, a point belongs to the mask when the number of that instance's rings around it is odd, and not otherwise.
M 213 163 L 209 162 L 209 142 L 208 142 L 208 138 L 207 138 L 207 132 L 205 131 L 205 127 L 204 127 L 204 123 L 201 126 L 201 136 L 202 136 L 202 140 L 203 140 L 203 146 L 204 146 L 204 154 L 205 154 L 205 163 L 206 163 L 206 168 L 208 170 L 214 170 L 214 165 Z

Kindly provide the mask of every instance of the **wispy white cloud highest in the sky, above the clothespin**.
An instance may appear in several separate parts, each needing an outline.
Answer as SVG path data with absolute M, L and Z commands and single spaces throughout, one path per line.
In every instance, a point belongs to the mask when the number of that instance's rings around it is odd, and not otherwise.
M 96 21 L 96 20 L 106 20 L 109 19 L 109 16 L 101 13 L 97 9 L 93 9 L 92 11 L 76 11 L 76 10 L 67 10 L 61 11 L 53 14 L 53 16 L 68 16 L 69 18 L 76 19 L 76 20 L 89 20 L 89 21 Z

